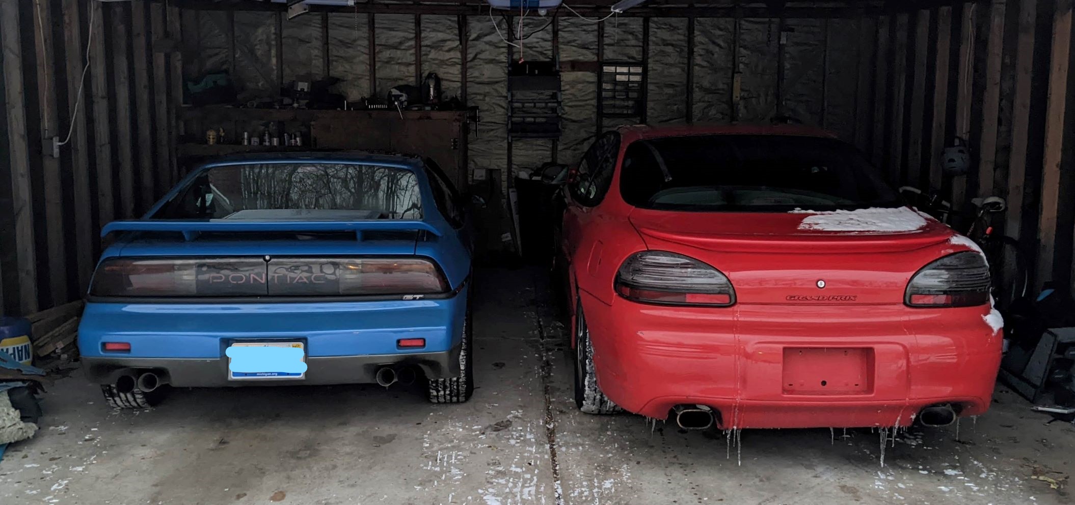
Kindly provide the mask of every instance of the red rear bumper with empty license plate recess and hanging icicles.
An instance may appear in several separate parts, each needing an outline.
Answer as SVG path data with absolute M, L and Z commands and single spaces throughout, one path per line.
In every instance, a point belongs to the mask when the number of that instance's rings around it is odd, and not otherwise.
M 624 409 L 719 411 L 721 428 L 907 426 L 989 407 L 1002 336 L 988 308 L 666 308 L 582 294 L 598 383 Z

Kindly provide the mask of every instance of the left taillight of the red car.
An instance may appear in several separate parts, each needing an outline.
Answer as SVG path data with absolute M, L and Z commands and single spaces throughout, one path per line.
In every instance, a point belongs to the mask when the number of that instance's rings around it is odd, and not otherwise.
M 735 302 L 731 281 L 698 259 L 666 251 L 643 251 L 616 273 L 616 293 L 643 303 L 728 307 Z

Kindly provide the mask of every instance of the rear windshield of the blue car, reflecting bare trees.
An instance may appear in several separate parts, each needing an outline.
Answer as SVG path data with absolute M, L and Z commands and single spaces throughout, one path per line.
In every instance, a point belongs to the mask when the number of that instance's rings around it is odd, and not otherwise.
M 202 172 L 158 219 L 421 219 L 414 173 L 349 163 L 264 163 Z

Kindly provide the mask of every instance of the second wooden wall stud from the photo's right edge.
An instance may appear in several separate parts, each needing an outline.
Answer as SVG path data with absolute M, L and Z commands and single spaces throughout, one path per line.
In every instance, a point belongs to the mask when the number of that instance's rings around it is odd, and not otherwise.
M 1015 54 L 1015 98 L 1012 102 L 1012 155 L 1008 161 L 1008 210 L 1004 234 L 1020 237 L 1023 188 L 1027 183 L 1027 132 L 1030 128 L 1031 87 L 1034 81 L 1034 34 L 1037 28 L 1037 0 L 1019 2 L 1019 39 Z

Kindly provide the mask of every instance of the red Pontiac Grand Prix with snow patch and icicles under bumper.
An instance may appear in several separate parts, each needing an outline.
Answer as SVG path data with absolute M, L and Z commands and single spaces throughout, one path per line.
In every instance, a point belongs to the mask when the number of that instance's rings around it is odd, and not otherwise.
M 570 172 L 575 401 L 684 428 L 941 426 L 989 407 L 980 250 L 798 125 L 628 127 Z

